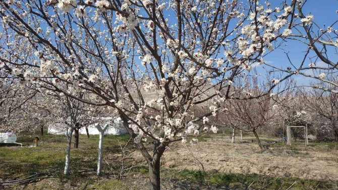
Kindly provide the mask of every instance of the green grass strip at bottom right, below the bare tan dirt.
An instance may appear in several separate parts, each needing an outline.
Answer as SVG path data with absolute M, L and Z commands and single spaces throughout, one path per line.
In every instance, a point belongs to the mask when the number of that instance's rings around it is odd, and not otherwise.
M 170 170 L 166 177 L 172 177 L 176 180 L 188 181 L 199 186 L 212 186 L 215 188 L 225 189 L 287 189 L 295 181 L 292 189 L 331 189 L 335 185 L 328 181 L 317 181 L 301 179 L 295 177 L 274 178 L 257 174 L 235 174 L 220 172 L 203 172 L 192 170 Z

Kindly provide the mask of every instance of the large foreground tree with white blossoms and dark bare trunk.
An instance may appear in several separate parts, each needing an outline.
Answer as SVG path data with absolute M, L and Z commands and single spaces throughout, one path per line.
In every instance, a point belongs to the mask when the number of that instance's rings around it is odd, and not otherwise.
M 296 2 L 2 1 L 1 66 L 13 81 L 115 109 L 148 163 L 150 189 L 159 189 L 166 147 L 199 134 L 196 122 L 207 124 L 229 97 L 219 91 L 283 42 Z M 211 100 L 208 113 L 194 115 Z

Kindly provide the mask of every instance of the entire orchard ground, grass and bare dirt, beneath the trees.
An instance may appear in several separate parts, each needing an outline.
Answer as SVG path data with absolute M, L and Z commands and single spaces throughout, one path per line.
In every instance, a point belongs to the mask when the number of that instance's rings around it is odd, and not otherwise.
M 172 144 L 161 161 L 162 189 L 338 189 L 334 142 L 287 146 L 262 136 L 266 150 L 260 152 L 251 134 L 232 144 L 230 133 L 200 137 L 197 145 Z M 68 176 L 66 137 L 40 136 L 39 147 L 28 147 L 34 137 L 19 136 L 24 147 L 0 147 L 0 184 L 35 172 L 50 178 L 0 189 L 148 189 L 148 168 L 128 135 L 104 137 L 102 176 L 96 175 L 98 136 L 80 136 Z

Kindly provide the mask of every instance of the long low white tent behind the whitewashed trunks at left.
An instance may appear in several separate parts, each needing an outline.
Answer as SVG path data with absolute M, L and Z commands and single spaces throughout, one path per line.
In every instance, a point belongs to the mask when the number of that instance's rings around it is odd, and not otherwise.
M 112 118 L 112 117 L 101 117 L 97 120 L 101 122 L 92 123 L 87 126 L 89 135 L 99 135 L 100 132 L 96 129 L 95 124 L 108 124 L 108 128 L 105 131 L 105 135 L 122 135 L 126 134 L 127 131 L 122 125 L 121 118 Z M 64 123 L 53 123 L 48 126 L 48 134 L 53 135 L 67 135 L 67 125 Z M 83 126 L 79 130 L 80 135 L 86 135 L 86 127 Z

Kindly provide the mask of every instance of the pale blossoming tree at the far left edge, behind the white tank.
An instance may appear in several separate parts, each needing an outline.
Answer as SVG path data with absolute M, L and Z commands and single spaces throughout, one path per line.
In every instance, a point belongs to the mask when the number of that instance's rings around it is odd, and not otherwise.
M 48 105 L 43 104 L 39 93 L 20 85 L 4 82 L 0 89 L 0 130 L 34 132 L 43 129 L 53 119 Z

